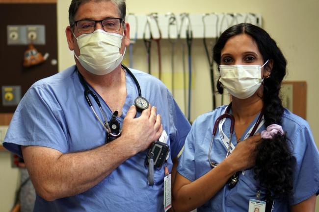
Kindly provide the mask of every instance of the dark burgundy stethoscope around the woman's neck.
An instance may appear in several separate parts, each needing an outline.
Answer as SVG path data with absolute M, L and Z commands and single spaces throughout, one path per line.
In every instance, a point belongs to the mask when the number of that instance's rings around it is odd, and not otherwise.
M 216 135 L 216 132 L 217 132 L 217 126 L 219 125 L 219 122 L 221 120 L 223 120 L 224 118 L 229 118 L 231 120 L 231 124 L 230 124 L 230 136 L 229 136 L 229 144 L 228 144 L 228 148 L 227 148 L 227 154 L 226 154 L 226 157 L 227 158 L 229 156 L 229 153 L 231 151 L 231 139 L 232 139 L 232 136 L 233 136 L 233 133 L 234 133 L 234 128 L 235 128 L 235 118 L 233 115 L 229 114 L 229 111 L 232 107 L 232 102 L 227 106 L 226 110 L 225 110 L 225 113 L 222 114 L 220 117 L 218 117 L 214 123 L 214 127 L 213 127 L 213 138 L 212 138 L 212 141 L 211 141 L 211 145 L 210 145 L 210 149 L 208 151 L 208 161 L 210 163 L 210 165 L 214 168 L 216 167 L 218 164 L 217 163 L 214 163 L 211 161 L 211 150 L 212 150 L 212 146 L 213 146 L 213 140 L 214 140 L 214 137 Z M 263 111 L 261 111 L 261 113 L 259 114 L 259 117 L 255 123 L 255 125 L 253 126 L 250 134 L 248 137 L 251 137 L 255 134 L 257 128 L 259 127 L 260 123 L 262 122 L 263 120 Z M 229 188 L 234 188 L 236 186 L 236 184 L 238 183 L 238 178 L 239 178 L 239 172 L 236 172 L 228 181 L 227 181 L 227 184 L 228 184 L 228 187 Z

